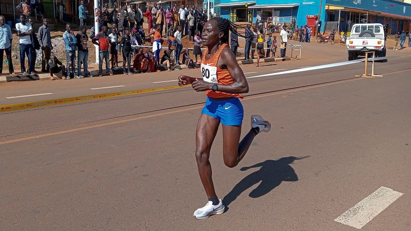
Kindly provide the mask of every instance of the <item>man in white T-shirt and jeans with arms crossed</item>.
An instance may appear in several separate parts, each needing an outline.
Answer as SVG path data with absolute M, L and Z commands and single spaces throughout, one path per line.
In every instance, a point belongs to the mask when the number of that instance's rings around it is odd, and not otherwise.
M 34 73 L 34 66 L 31 61 L 32 44 L 30 36 L 33 34 L 33 28 L 31 24 L 26 23 L 26 16 L 24 14 L 20 15 L 21 23 L 16 24 L 17 36 L 20 37 L 18 43 L 20 44 L 20 65 L 23 75 L 27 75 L 25 56 L 27 55 L 29 73 Z

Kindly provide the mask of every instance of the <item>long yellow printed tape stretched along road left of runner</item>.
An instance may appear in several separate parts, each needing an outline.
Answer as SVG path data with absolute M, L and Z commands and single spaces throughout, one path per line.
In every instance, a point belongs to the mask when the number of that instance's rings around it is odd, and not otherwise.
M 191 85 L 187 85 L 187 86 L 183 86 L 183 87 L 188 87 L 188 86 L 191 86 Z M 18 104 L 8 104 L 8 105 L 1 105 L 0 106 L 0 113 L 1 112 L 24 110 L 24 109 L 31 109 L 31 108 L 38 108 L 38 107 L 55 106 L 55 105 L 62 105 L 62 104 L 92 101 L 92 100 L 101 100 L 101 99 L 108 99 L 108 98 L 115 98 L 115 97 L 123 97 L 123 96 L 127 96 L 127 95 L 143 94 L 143 93 L 149 93 L 149 92 L 155 92 L 155 91 L 173 90 L 173 89 L 178 89 L 178 88 L 183 88 L 183 87 L 179 87 L 179 86 L 158 87 L 158 88 L 142 89 L 142 90 L 134 90 L 134 91 L 121 91 L 121 92 L 113 92 L 113 93 L 105 93 L 105 94 L 90 94 L 90 95 L 84 95 L 84 96 L 80 96 L 80 97 L 62 98 L 62 99 L 54 99 L 54 100 L 43 100 L 43 101 L 18 103 Z

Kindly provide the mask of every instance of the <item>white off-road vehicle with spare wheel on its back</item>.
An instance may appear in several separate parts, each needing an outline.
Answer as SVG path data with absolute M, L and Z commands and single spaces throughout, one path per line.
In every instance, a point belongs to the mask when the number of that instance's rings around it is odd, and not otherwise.
M 385 57 L 384 27 L 379 23 L 354 24 L 347 37 L 348 60 L 364 56 L 367 51 L 375 51 L 376 57 Z M 368 54 L 372 56 L 372 54 Z

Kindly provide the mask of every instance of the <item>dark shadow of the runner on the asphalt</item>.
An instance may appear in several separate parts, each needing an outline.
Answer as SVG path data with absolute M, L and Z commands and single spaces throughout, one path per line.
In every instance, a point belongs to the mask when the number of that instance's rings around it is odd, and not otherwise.
M 250 168 L 261 167 L 259 170 L 254 171 L 252 174 L 238 182 L 229 194 L 224 197 L 222 203 L 226 206 L 226 211 L 228 210 L 228 205 L 237 199 L 242 192 L 260 181 L 261 183 L 250 192 L 250 197 L 258 198 L 264 196 L 283 181 L 297 181 L 298 177 L 290 164 L 294 162 L 294 160 L 301 160 L 307 157 L 309 156 L 283 157 L 276 161 L 266 160 L 253 166 L 240 168 L 240 171 L 246 171 Z

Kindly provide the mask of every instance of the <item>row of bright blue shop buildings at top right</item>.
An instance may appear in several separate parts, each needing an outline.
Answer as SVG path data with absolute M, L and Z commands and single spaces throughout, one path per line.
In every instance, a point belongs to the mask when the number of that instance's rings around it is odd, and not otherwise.
M 318 23 L 321 32 L 349 31 L 355 23 L 381 23 L 396 33 L 409 31 L 411 21 L 411 4 L 395 0 L 220 0 L 214 6 L 232 22 L 276 17 L 294 26 Z

